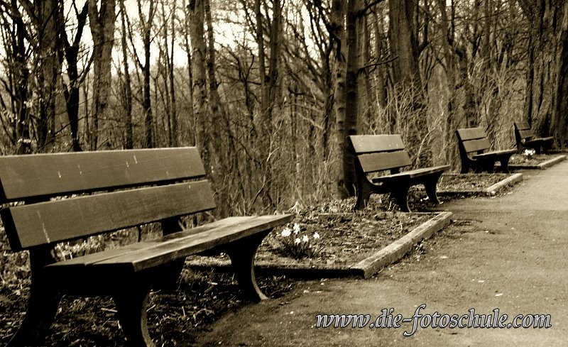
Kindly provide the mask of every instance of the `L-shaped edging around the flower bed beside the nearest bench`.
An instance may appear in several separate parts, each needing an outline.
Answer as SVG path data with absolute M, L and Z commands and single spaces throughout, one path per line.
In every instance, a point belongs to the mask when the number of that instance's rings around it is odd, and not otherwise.
M 256 275 L 286 275 L 288 277 L 303 279 L 320 279 L 320 278 L 340 278 L 340 277 L 361 277 L 368 278 L 376 274 L 379 270 L 394 263 L 412 249 L 413 246 L 430 238 L 436 231 L 442 230 L 450 222 L 452 212 L 442 211 L 431 219 L 420 224 L 405 236 L 393 241 L 385 248 L 374 253 L 370 257 L 361 260 L 355 265 L 346 264 L 343 266 L 315 266 L 315 265 L 283 265 L 278 263 L 256 262 L 254 265 Z M 227 260 L 219 260 L 214 263 L 199 264 L 190 261 L 190 267 L 196 270 L 210 270 L 216 268 L 221 271 L 231 270 L 231 265 Z

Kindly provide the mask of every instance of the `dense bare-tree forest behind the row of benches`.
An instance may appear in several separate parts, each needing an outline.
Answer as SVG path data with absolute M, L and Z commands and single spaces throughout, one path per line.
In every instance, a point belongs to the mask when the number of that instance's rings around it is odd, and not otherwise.
M 564 148 L 567 77 L 562 0 L 0 0 L 2 155 L 197 145 L 221 215 L 353 194 L 355 133 Z

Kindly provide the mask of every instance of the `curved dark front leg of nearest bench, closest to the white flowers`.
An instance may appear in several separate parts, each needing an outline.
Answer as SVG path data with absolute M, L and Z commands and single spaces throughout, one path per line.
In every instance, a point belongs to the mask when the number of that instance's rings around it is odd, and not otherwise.
M 244 297 L 259 302 L 268 299 L 256 284 L 256 275 L 254 274 L 254 256 L 258 246 L 261 245 L 263 239 L 271 232 L 272 229 L 255 233 L 246 238 L 232 242 L 226 248 L 225 253 L 231 258 L 231 266 L 234 270 L 236 280 Z

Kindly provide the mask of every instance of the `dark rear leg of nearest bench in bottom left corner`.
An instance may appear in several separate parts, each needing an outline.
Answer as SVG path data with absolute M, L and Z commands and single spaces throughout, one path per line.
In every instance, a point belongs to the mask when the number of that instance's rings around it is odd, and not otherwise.
M 40 286 L 33 280 L 28 299 L 28 310 L 22 324 L 8 343 L 8 347 L 45 346 L 51 324 L 58 312 L 60 294 L 52 292 L 48 286 Z

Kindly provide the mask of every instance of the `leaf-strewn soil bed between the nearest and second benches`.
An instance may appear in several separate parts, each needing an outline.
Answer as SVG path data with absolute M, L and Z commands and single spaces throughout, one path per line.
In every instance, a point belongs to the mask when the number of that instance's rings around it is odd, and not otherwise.
M 354 199 L 297 209 L 290 226 L 276 229 L 265 238 L 258 249 L 256 265 L 275 272 L 280 269 L 283 273 L 286 269 L 313 269 L 316 273 L 317 270 L 347 270 L 435 216 L 429 212 L 398 211 L 385 197 L 373 195 L 368 206 L 360 211 L 351 210 Z M 289 237 L 297 238 L 298 246 L 309 243 L 315 249 L 313 256 L 295 257 L 287 253 L 285 242 Z M 226 266 L 229 259 L 226 256 L 192 257 L 190 263 Z M 321 275 L 325 275 L 324 272 Z

